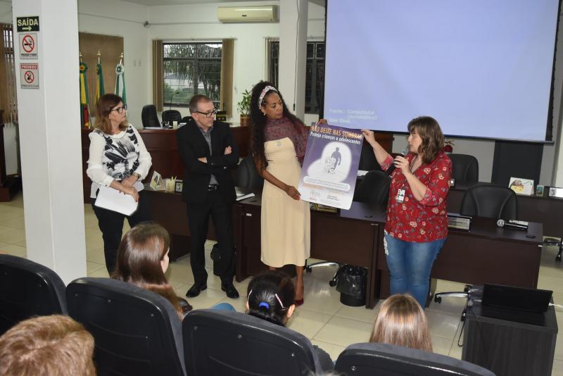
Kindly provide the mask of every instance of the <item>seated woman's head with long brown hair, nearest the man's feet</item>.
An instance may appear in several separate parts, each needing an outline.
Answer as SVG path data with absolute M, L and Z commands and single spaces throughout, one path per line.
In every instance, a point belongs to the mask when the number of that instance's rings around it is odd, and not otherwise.
M 164 275 L 169 263 L 169 245 L 170 237 L 162 226 L 140 223 L 121 239 L 117 265 L 111 277 L 164 296 L 182 318 L 191 307 L 184 304 L 182 309 L 180 298 Z

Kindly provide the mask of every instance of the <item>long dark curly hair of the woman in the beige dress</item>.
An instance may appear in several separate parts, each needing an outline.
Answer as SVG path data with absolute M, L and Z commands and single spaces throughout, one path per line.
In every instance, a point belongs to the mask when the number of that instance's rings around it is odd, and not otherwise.
M 267 87 L 271 86 L 274 87 L 272 82 L 267 81 L 260 81 L 258 84 L 255 84 L 252 88 L 252 96 L 251 96 L 251 119 L 252 119 L 252 143 L 251 143 L 251 150 L 254 160 L 260 162 L 262 169 L 266 168 L 268 163 L 266 161 L 266 154 L 264 151 L 264 128 L 266 127 L 267 118 L 266 116 L 260 111 L 260 107 L 264 106 L 265 99 L 272 93 L 277 93 L 279 95 L 279 99 L 281 99 L 281 103 L 284 107 L 284 116 L 291 120 L 291 123 L 296 126 L 296 129 L 299 129 L 298 124 L 300 120 L 293 115 L 293 113 L 289 112 L 289 108 L 286 106 L 286 102 L 284 101 L 284 97 L 281 96 L 281 93 L 276 88 L 275 90 L 268 90 L 262 99 L 262 103 L 258 103 L 260 99 L 260 93 L 262 90 Z

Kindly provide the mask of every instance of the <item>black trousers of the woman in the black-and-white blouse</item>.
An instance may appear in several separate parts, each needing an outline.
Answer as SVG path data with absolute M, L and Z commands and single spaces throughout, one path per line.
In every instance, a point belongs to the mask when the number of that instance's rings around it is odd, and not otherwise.
M 106 269 L 111 275 L 115 270 L 115 261 L 118 256 L 118 248 L 123 233 L 123 220 L 127 218 L 130 227 L 134 227 L 137 223 L 151 220 L 151 208 L 148 205 L 148 196 L 144 191 L 139 192 L 139 206 L 137 211 L 132 215 L 124 215 L 115 211 L 98 208 L 94 206 L 96 199 L 91 199 L 92 208 L 98 218 L 98 227 L 103 238 L 103 254 L 106 256 Z

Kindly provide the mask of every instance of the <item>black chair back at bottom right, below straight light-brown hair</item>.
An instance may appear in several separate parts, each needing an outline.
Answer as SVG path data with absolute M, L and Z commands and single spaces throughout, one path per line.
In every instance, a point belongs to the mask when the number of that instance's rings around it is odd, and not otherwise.
M 391 344 L 352 344 L 340 354 L 336 372 L 354 376 L 495 376 L 479 365 Z

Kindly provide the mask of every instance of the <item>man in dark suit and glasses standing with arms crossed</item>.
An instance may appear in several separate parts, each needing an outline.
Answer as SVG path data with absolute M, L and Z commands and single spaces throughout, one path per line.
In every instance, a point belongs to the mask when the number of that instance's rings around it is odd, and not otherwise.
M 203 246 L 211 215 L 220 245 L 221 289 L 229 298 L 238 298 L 239 292 L 233 286 L 235 259 L 231 225 L 231 205 L 236 193 L 230 168 L 239 162 L 239 148 L 229 125 L 215 120 L 217 111 L 207 96 L 194 95 L 189 102 L 189 111 L 193 120 L 177 131 L 178 148 L 185 168 L 182 199 L 188 212 L 190 262 L 195 280 L 186 296 L 198 296 L 207 288 Z

